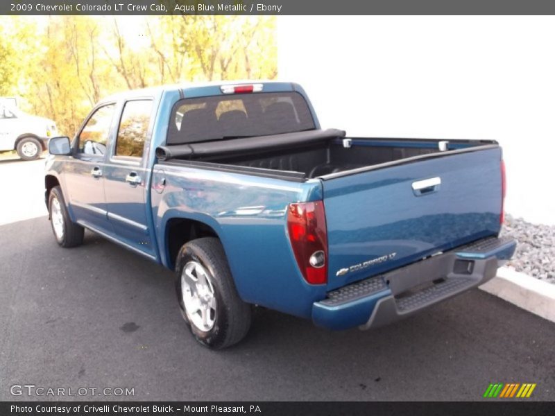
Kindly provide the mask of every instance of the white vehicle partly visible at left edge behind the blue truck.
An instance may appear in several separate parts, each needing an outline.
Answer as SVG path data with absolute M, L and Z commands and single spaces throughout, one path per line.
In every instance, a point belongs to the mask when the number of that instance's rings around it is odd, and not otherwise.
M 37 159 L 57 134 L 52 120 L 26 114 L 0 98 L 0 152 L 17 150 L 24 160 Z

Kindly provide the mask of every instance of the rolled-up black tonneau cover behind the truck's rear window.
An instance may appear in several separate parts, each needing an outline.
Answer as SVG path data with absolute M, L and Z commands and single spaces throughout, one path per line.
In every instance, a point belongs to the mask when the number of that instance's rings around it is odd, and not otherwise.
M 220 141 L 205 141 L 156 148 L 156 157 L 160 160 L 178 157 L 230 155 L 232 153 L 252 150 L 273 150 L 291 146 L 304 146 L 318 141 L 327 141 L 345 137 L 343 130 L 330 128 L 327 130 L 308 130 L 305 132 L 283 133 L 282 135 L 244 137 Z

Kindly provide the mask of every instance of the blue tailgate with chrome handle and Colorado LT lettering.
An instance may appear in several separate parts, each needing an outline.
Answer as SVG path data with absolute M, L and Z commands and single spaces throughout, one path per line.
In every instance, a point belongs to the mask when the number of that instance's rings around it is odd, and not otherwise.
M 499 232 L 501 148 L 323 180 L 328 289 Z

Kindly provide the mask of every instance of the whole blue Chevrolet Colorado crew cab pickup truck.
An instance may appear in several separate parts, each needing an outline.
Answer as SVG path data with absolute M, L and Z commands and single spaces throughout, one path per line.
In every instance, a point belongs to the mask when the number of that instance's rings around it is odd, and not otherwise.
M 244 338 L 254 306 L 379 327 L 488 281 L 515 250 L 498 237 L 496 141 L 347 137 L 294 83 L 125 92 L 49 153 L 58 244 L 87 228 L 175 270 L 207 347 Z

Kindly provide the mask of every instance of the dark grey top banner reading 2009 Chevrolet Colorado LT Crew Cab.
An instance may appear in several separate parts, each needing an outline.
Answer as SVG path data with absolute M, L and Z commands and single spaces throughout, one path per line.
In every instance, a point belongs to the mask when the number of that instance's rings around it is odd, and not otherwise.
M 0 15 L 554 15 L 549 0 L 2 0 Z

